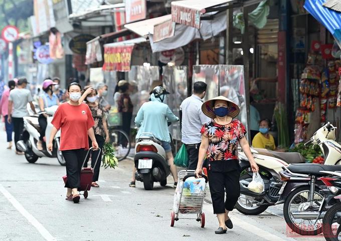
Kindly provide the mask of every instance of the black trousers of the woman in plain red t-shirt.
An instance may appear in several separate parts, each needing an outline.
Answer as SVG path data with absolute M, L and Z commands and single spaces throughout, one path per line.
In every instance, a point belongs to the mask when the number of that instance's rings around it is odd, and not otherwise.
M 66 175 L 68 177 L 65 187 L 79 188 L 81 184 L 80 173 L 86 151 L 81 148 L 75 150 L 65 150 L 62 151 L 62 154 L 66 162 Z

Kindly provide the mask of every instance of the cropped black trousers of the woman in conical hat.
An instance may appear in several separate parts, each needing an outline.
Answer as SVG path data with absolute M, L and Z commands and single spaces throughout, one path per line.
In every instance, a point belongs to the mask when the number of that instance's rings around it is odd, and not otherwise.
M 240 195 L 240 171 L 217 172 L 208 170 L 213 212 L 225 213 L 225 209 L 232 211 Z M 226 200 L 224 202 L 225 192 Z

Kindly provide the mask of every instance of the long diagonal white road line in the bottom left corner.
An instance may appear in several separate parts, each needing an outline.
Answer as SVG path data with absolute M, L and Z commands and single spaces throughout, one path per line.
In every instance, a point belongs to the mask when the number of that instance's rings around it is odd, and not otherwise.
M 0 184 L 0 192 L 12 203 L 12 205 L 42 234 L 42 236 L 48 241 L 57 240 L 51 233 L 34 217 L 29 213 L 22 204 L 8 191 L 5 187 Z

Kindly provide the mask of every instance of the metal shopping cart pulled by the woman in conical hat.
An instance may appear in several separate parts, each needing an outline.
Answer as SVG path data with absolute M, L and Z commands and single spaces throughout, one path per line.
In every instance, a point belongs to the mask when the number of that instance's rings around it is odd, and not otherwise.
M 208 178 L 202 174 L 200 178 L 196 178 L 201 183 L 199 191 L 185 191 L 186 180 L 190 177 L 195 177 L 194 170 L 181 170 L 179 172 L 178 186 L 174 194 L 173 211 L 170 213 L 170 226 L 173 227 L 175 221 L 179 220 L 179 212 L 197 214 L 196 220 L 201 223 L 201 227 L 205 227 L 205 213 L 203 212 L 204 197 L 206 194 L 206 185 Z M 193 178 L 191 178 L 193 179 Z M 195 219 L 195 218 L 186 218 Z

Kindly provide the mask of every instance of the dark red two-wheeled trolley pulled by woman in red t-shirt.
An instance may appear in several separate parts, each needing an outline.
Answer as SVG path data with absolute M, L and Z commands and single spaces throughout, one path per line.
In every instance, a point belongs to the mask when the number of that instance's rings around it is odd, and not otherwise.
M 83 161 L 83 164 L 82 164 L 82 168 L 81 168 L 81 174 L 80 174 L 81 186 L 78 188 L 78 191 L 79 192 L 84 191 L 83 192 L 84 198 L 88 197 L 88 194 L 89 194 L 88 191 L 91 188 L 92 178 L 93 178 L 93 175 L 94 175 L 94 169 L 92 167 L 84 167 L 86 159 L 89 156 L 90 150 L 92 150 L 92 149 L 93 148 L 90 147 L 88 152 L 85 155 L 85 158 L 84 158 L 84 161 Z M 102 150 L 101 150 L 101 148 L 98 148 L 98 150 L 96 150 L 96 151 L 102 151 Z M 97 155 L 97 159 L 96 159 L 96 162 L 95 162 L 94 166 L 96 166 L 98 158 L 99 158 L 99 155 Z M 63 176 L 63 180 L 64 180 L 64 183 L 66 183 L 67 180 L 68 180 L 68 177 L 66 175 Z

